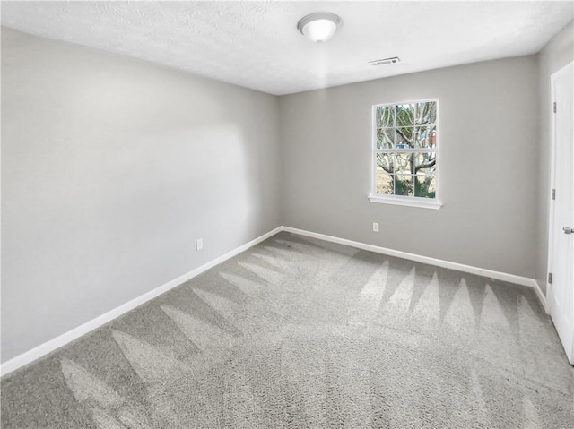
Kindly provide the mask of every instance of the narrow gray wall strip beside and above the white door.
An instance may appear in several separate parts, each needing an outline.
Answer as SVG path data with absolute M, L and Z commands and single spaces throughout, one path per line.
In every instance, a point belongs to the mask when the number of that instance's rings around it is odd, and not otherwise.
M 551 84 L 552 73 L 574 60 L 574 21 L 562 29 L 539 54 L 540 61 L 540 153 L 539 153 L 539 223 L 536 279 L 546 291 L 548 269 L 548 202 L 550 197 L 551 159 Z

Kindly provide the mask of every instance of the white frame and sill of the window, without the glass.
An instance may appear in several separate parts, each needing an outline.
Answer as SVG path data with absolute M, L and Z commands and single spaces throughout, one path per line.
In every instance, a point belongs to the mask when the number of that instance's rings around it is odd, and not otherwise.
M 414 104 L 414 103 L 425 103 L 429 101 L 434 101 L 437 103 L 437 122 L 436 122 L 436 139 L 437 145 L 432 150 L 429 149 L 401 149 L 397 150 L 389 149 L 389 150 L 380 150 L 377 149 L 377 108 L 383 106 L 396 106 L 402 104 Z M 384 204 L 394 204 L 394 205 L 401 205 L 401 206 L 410 206 L 410 207 L 419 207 L 422 209 L 434 209 L 439 210 L 442 207 L 442 202 L 439 200 L 439 121 L 440 121 L 440 114 L 439 114 L 439 99 L 417 99 L 413 101 L 398 101 L 396 103 L 381 103 L 373 105 L 372 107 L 372 118 L 371 118 L 371 132 L 372 132 L 372 146 L 371 146 L 371 157 L 370 157 L 370 194 L 369 200 L 370 202 L 380 202 Z M 386 195 L 377 193 L 377 163 L 376 157 L 377 153 L 416 153 L 416 152 L 433 152 L 436 154 L 436 168 L 435 168 L 435 196 L 434 198 L 426 198 L 426 197 L 411 197 L 406 195 Z

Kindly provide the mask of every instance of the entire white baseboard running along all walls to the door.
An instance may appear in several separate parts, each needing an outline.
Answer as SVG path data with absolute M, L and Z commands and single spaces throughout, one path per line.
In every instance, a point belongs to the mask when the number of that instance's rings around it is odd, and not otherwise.
M 152 300 L 156 296 L 160 296 L 161 294 L 166 293 L 167 291 L 169 291 L 173 287 L 177 287 L 177 286 L 181 285 L 182 283 L 185 283 L 189 279 L 193 279 L 194 277 L 203 273 L 204 271 L 209 270 L 210 268 L 213 268 L 215 265 L 218 265 L 222 262 L 227 261 L 228 259 L 232 258 L 233 256 L 248 250 L 248 248 L 250 248 L 254 245 L 257 245 L 258 243 L 261 243 L 262 241 L 266 240 L 270 236 L 274 236 L 275 234 L 277 234 L 278 232 L 281 232 L 281 231 L 291 232 L 293 234 L 298 234 L 300 236 L 309 236 L 309 237 L 313 237 L 313 238 L 318 238 L 320 240 L 325 240 L 325 241 L 329 241 L 332 243 L 338 243 L 340 245 L 350 245 L 350 246 L 356 247 L 358 249 L 368 250 L 368 251 L 374 252 L 374 253 L 383 253 L 383 254 L 387 254 L 389 256 L 396 256 L 398 258 L 404 258 L 404 259 L 408 259 L 411 261 L 428 263 L 431 265 L 436 265 L 436 266 L 439 266 L 442 268 L 447 268 L 450 270 L 469 272 L 471 274 L 476 274 L 476 275 L 488 277 L 491 279 L 508 281 L 509 283 L 514 283 L 514 284 L 521 285 L 521 286 L 533 287 L 535 289 L 536 296 L 538 296 L 538 299 L 540 300 L 541 304 L 544 307 L 544 310 L 546 311 L 546 299 L 544 297 L 544 294 L 542 293 L 542 290 L 540 289 L 540 286 L 538 285 L 538 283 L 536 282 L 535 279 L 528 279 L 526 277 L 520 277 L 520 276 L 516 276 L 514 274 L 508 274 L 508 273 L 499 272 L 499 271 L 485 270 L 482 268 L 476 268 L 476 267 L 473 267 L 470 265 L 464 265 L 464 264 L 457 263 L 457 262 L 443 261 L 443 260 L 439 260 L 439 259 L 435 259 L 435 258 L 430 258 L 428 256 L 422 256 L 419 254 L 406 253 L 406 252 L 401 252 L 401 251 L 397 251 L 397 250 L 393 250 L 393 249 L 387 249 L 385 247 L 379 247 L 377 245 L 367 245 L 365 243 L 347 240 L 345 238 L 339 238 L 339 237 L 335 237 L 335 236 L 326 236 L 324 234 L 317 234 L 314 232 L 306 231 L 303 229 L 297 229 L 294 227 L 276 227 L 273 230 L 269 231 L 268 233 L 264 234 L 263 236 L 258 236 L 254 240 L 251 240 L 250 242 L 246 243 L 245 245 L 240 245 L 236 249 L 233 249 L 232 251 L 223 254 L 222 256 L 214 259 L 211 262 L 205 263 L 204 265 L 196 268 L 195 270 L 191 270 L 191 271 L 187 272 L 186 274 L 178 277 L 177 279 L 170 280 L 168 283 L 165 283 L 164 285 L 161 285 L 160 287 L 156 287 L 155 289 L 152 289 L 150 292 L 147 292 L 147 293 L 143 294 L 142 296 L 137 296 L 136 298 L 132 299 L 131 301 L 127 302 L 126 304 L 119 305 L 118 307 L 114 308 L 113 310 L 109 311 L 108 313 L 104 313 L 104 314 L 96 317 L 95 319 L 92 319 L 89 322 L 85 322 L 82 325 L 78 326 L 77 328 L 74 328 L 73 330 L 69 330 L 69 331 L 65 332 L 64 334 L 58 336 L 55 339 L 50 339 L 49 341 L 39 345 L 38 347 L 34 347 L 31 350 L 29 350 L 25 353 L 22 353 L 22 355 L 13 357 L 12 359 L 6 361 L 4 364 L 1 365 L 0 373 L 2 373 L 2 375 L 5 375 L 7 373 L 12 373 L 13 371 L 17 370 L 18 368 L 21 368 L 23 365 L 28 365 L 31 362 L 35 361 L 36 359 L 39 359 L 39 357 L 48 355 L 48 353 L 56 350 L 57 348 L 63 347 L 66 344 L 73 341 L 74 339 L 78 339 L 78 338 L 82 337 L 83 335 L 91 332 L 92 330 L 100 328 L 100 326 L 104 325 L 105 323 L 111 322 L 112 320 L 116 319 L 117 317 L 121 316 L 122 314 L 127 313 L 130 310 L 133 310 L 135 307 L 137 307 L 139 305 L 143 305 L 144 303 Z

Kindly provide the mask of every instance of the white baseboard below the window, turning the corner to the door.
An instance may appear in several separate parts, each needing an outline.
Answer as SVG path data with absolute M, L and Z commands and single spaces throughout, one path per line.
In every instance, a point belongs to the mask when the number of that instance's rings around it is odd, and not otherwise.
M 293 234 L 299 234 L 300 236 L 309 236 L 312 238 L 318 238 L 320 240 L 330 241 L 332 243 L 338 243 L 340 245 L 350 245 L 362 250 L 368 250 L 374 253 L 387 254 L 389 256 L 396 256 L 397 258 L 408 259 L 410 261 L 428 263 L 430 265 L 436 265 L 438 267 L 447 268 L 449 270 L 457 270 L 468 272 L 471 274 L 476 274 L 478 276 L 488 277 L 490 279 L 497 279 L 501 281 L 507 281 L 520 286 L 532 287 L 535 289 L 536 296 L 540 300 L 540 304 L 543 306 L 544 311 L 546 310 L 546 298 L 535 279 L 529 279 L 527 277 L 521 277 L 514 274 L 509 274 L 506 272 L 486 270 L 483 268 L 473 267 L 471 265 L 465 265 L 457 262 L 443 261 L 441 259 L 431 258 L 429 256 L 422 256 L 415 253 L 406 253 L 398 250 L 387 249 L 386 247 L 380 247 L 378 245 L 367 245 L 365 243 L 360 243 L 357 241 L 347 240 L 346 238 L 339 238 L 336 236 L 326 236 L 325 234 L 317 234 L 315 232 L 306 231 L 304 229 L 297 229 L 294 227 L 281 227 L 282 231 L 291 232 Z

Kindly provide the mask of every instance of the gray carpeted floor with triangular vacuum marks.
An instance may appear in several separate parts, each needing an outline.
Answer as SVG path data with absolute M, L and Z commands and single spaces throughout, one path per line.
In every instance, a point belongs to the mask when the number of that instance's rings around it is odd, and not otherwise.
M 2 380 L 4 428 L 569 428 L 534 290 L 279 233 Z

